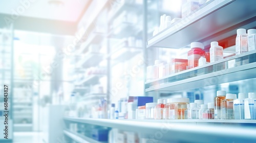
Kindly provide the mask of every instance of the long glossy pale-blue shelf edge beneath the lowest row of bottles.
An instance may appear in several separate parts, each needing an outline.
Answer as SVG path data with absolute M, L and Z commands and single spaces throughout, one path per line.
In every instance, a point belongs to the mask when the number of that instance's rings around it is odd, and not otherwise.
M 168 142 L 174 140 L 179 140 L 179 142 L 256 141 L 254 134 L 256 122 L 251 120 L 110 120 L 73 117 L 64 117 L 64 120 L 133 131 L 148 138 L 161 134 L 160 138 L 155 139 Z

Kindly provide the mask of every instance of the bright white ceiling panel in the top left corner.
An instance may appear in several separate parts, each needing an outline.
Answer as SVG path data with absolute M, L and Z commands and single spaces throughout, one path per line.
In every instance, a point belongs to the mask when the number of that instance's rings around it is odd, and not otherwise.
M 1 0 L 0 13 L 12 15 L 17 12 L 20 16 L 74 22 L 90 0 L 58 0 L 63 5 L 50 4 L 49 1 L 57 0 Z

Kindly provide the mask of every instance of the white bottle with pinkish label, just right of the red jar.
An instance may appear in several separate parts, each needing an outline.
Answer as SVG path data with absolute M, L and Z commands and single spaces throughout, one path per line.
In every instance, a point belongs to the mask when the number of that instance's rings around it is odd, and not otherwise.
M 223 47 L 218 42 L 210 42 L 210 62 L 223 59 Z

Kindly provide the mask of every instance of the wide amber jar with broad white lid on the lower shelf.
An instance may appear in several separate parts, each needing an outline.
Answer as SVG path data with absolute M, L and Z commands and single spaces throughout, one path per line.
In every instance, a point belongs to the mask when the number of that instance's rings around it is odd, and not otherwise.
M 170 98 L 166 100 L 168 119 L 187 119 L 188 98 Z

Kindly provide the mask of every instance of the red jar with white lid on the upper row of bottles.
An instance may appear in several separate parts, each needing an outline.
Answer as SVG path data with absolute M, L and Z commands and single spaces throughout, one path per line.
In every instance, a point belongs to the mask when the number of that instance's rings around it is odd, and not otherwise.
M 187 53 L 188 69 L 197 67 L 198 60 L 201 56 L 205 56 L 204 45 L 200 42 L 192 42 L 190 44 L 190 51 Z

